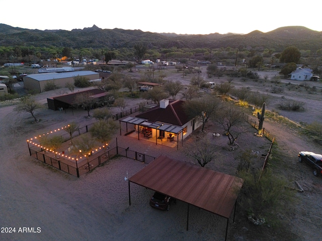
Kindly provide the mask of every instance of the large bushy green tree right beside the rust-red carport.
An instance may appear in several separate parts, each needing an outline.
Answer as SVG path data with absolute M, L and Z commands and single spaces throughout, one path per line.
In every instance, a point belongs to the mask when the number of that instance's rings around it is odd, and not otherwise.
M 254 171 L 250 171 L 253 169 Z M 238 170 L 237 176 L 243 178 L 239 205 L 248 218 L 253 221 L 277 224 L 277 216 L 283 215 L 296 202 L 295 192 L 284 176 L 274 174 L 266 168 L 264 172 L 251 168 Z M 267 220 L 268 219 L 268 220 Z M 254 222 L 255 223 L 255 222 Z

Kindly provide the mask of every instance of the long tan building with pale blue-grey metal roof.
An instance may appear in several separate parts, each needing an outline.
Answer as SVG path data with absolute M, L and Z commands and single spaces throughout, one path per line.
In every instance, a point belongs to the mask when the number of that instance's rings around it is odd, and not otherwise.
M 25 89 L 34 90 L 35 92 L 43 92 L 45 86 L 50 81 L 53 81 L 57 87 L 65 87 L 66 83 L 74 83 L 74 77 L 83 76 L 89 79 L 89 81 L 100 81 L 98 73 L 93 71 L 72 71 L 64 73 L 39 73 L 28 74 L 23 77 Z

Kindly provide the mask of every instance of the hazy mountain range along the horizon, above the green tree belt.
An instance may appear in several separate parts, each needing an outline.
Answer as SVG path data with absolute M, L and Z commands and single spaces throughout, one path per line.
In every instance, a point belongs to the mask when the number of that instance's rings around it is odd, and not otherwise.
M 178 35 L 151 33 L 141 30 L 91 28 L 67 30 L 31 30 L 0 24 L 1 46 L 70 47 L 78 48 L 132 48 L 144 42 L 149 48 L 238 48 L 275 49 L 282 51 L 288 46 L 315 52 L 322 49 L 322 32 L 302 26 L 281 27 L 263 33 Z

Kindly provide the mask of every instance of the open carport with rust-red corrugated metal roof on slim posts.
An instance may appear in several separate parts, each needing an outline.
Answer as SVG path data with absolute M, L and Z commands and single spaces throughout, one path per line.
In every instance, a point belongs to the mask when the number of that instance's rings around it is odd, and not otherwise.
M 236 200 L 244 182 L 243 179 L 166 156 L 159 156 L 128 180 L 129 205 L 130 182 L 133 182 L 188 203 L 187 230 L 190 204 L 226 218 L 225 240 L 229 217 L 234 209 L 234 221 Z

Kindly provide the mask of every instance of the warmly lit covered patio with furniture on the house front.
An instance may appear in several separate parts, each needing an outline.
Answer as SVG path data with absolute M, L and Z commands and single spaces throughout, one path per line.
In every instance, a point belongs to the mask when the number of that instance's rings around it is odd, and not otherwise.
M 183 145 L 184 132 L 182 127 L 161 122 L 151 123 L 148 122 L 147 119 L 138 117 L 126 117 L 120 120 L 120 135 L 122 135 L 121 122 L 126 124 L 126 136 L 137 137 L 138 140 L 141 138 L 152 141 L 155 142 L 155 145 L 163 144 L 172 147 L 177 146 L 177 149 L 179 148 L 180 141 Z M 181 135 L 181 138 L 179 135 Z

